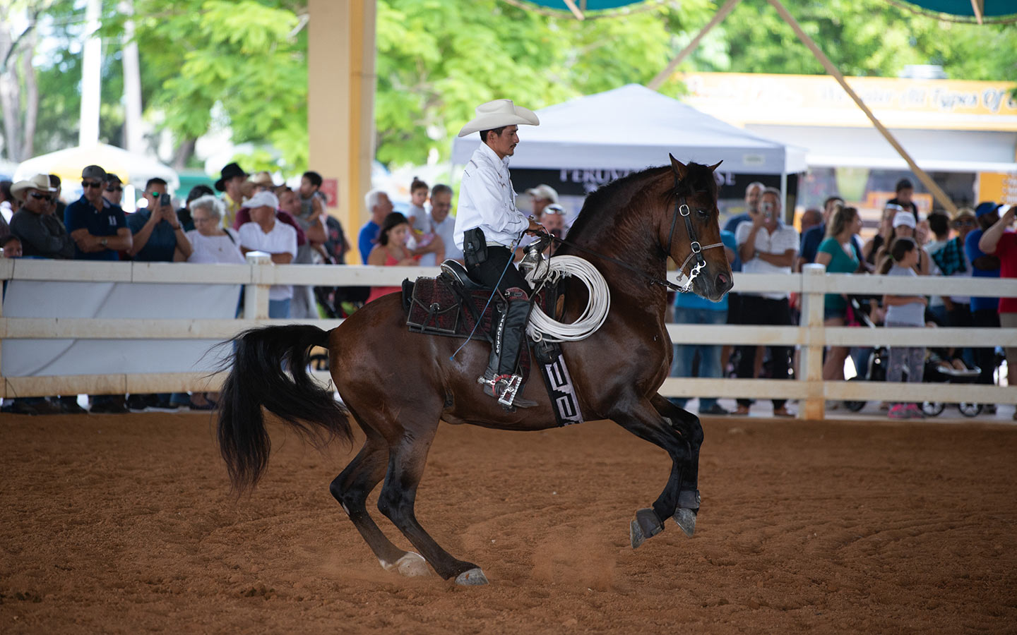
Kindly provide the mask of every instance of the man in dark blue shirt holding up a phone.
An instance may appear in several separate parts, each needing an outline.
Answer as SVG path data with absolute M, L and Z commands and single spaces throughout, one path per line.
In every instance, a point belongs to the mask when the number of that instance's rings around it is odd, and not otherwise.
M 155 178 L 144 184 L 144 200 L 147 206 L 138 209 L 127 218 L 133 244 L 130 255 L 141 262 L 173 262 L 186 260 L 191 254 L 190 241 L 177 218 L 172 203 L 162 204 L 166 194 L 166 181 Z

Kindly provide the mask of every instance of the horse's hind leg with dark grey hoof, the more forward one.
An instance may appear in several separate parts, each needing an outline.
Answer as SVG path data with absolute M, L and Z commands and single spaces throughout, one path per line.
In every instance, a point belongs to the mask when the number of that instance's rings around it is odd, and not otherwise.
M 487 578 L 480 567 L 457 560 L 441 549 L 420 525 L 413 511 L 417 486 L 427 462 L 427 451 L 437 430 L 436 418 L 432 424 L 404 428 L 406 434 L 390 451 L 388 473 L 378 496 L 378 509 L 420 550 L 442 578 L 455 577 L 456 583 L 464 585 L 486 584 Z

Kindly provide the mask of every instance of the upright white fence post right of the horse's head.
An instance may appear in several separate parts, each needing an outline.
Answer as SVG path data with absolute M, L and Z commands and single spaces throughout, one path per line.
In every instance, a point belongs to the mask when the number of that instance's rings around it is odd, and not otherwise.
M 806 264 L 801 267 L 801 322 L 804 342 L 799 357 L 801 377 L 805 382 L 805 399 L 798 406 L 799 419 L 823 419 L 826 415 L 826 397 L 823 394 L 823 297 L 826 291 L 826 267 Z

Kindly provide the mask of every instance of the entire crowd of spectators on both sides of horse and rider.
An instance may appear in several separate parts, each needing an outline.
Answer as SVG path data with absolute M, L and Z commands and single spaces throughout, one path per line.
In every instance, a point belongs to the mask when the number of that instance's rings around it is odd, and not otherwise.
M 100 166 L 81 172 L 82 194 L 64 204 L 55 175 L 36 175 L 18 183 L 0 182 L 0 247 L 4 257 L 79 260 L 138 260 L 198 264 L 243 263 L 244 254 L 261 251 L 276 263 L 343 264 L 350 244 L 342 225 L 325 210 L 315 172 L 301 177 L 298 188 L 276 184 L 267 173 L 251 176 L 231 163 L 222 170 L 215 190 L 192 188 L 178 208 L 162 179 L 145 184 L 140 209 L 126 214 L 120 206 L 123 182 Z M 221 195 L 217 196 L 216 191 Z M 370 219 L 357 237 L 364 264 L 434 265 L 444 258 L 462 260 L 453 240 L 455 218 L 450 215 L 453 190 L 433 187 L 414 178 L 406 213 L 394 210 L 382 190 L 365 196 Z M 567 232 L 557 193 L 547 185 L 527 191 L 534 217 L 559 238 Z M 878 231 L 862 243 L 861 217 L 843 199 L 829 197 L 821 210 L 802 216 L 802 232 L 782 221 L 778 190 L 752 183 L 745 190 L 745 211 L 731 217 L 721 233 L 728 260 L 735 271 L 790 273 L 806 263 L 842 274 L 943 275 L 950 277 L 1017 276 L 1017 234 L 1011 230 L 1014 207 L 982 202 L 961 209 L 953 217 L 933 212 L 922 217 L 909 181 L 898 183 L 895 196 L 884 207 Z M 6 218 L 10 218 L 9 224 Z M 548 248 L 552 252 L 555 244 Z M 338 288 L 274 285 L 270 316 L 274 318 L 341 317 L 363 302 L 398 288 Z M 712 303 L 690 294 L 675 300 L 675 321 L 696 324 L 791 325 L 797 320 L 794 298 L 786 293 L 731 293 Z M 920 307 L 919 307 L 920 305 Z M 920 313 L 920 322 L 915 315 Z M 886 326 L 943 325 L 1017 328 L 1017 299 L 944 296 L 932 298 L 880 296 L 864 298 L 830 294 L 824 299 L 824 323 L 857 325 L 862 320 Z M 891 346 L 888 379 L 920 381 L 926 350 Z M 856 372 L 869 368 L 872 348 L 831 347 L 823 377 L 843 378 L 850 355 Z M 954 368 L 978 368 L 977 381 L 995 382 L 999 366 L 995 347 L 957 347 L 942 352 Z M 1017 350 L 1006 358 L 1017 360 Z M 921 362 L 919 364 L 918 362 Z M 787 379 L 795 367 L 790 346 L 680 345 L 675 350 L 672 375 L 700 377 L 771 377 Z M 905 371 L 906 369 L 906 371 Z M 1017 363 L 1008 365 L 1010 385 L 1017 382 Z M 214 405 L 216 395 L 149 394 L 93 395 L 94 412 L 127 409 Z M 684 406 L 686 399 L 674 399 Z M 747 415 L 752 400 L 737 399 L 734 415 Z M 830 406 L 836 407 L 836 403 Z M 893 417 L 919 417 L 914 404 L 885 404 Z M 783 399 L 773 399 L 774 414 L 790 416 Z M 23 398 L 4 405 L 24 414 L 83 411 L 76 397 Z M 985 410 L 995 411 L 986 404 Z M 716 397 L 699 400 L 699 411 L 725 415 Z M 1017 418 L 1017 415 L 1015 415 Z

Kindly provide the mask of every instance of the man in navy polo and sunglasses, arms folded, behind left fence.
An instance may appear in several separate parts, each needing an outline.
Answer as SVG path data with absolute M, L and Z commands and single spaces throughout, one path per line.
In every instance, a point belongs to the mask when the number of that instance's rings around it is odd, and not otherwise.
M 74 240 L 76 260 L 120 260 L 130 251 L 131 236 L 124 210 L 103 198 L 106 171 L 88 166 L 81 171 L 81 198 L 64 209 L 64 225 Z

